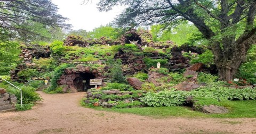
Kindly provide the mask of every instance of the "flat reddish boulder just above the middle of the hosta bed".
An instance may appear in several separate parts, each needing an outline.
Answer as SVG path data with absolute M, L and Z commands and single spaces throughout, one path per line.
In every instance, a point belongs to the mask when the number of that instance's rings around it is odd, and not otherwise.
M 191 90 L 197 89 L 197 88 L 199 88 L 201 86 L 202 85 L 198 85 L 196 83 L 184 81 L 182 83 L 179 83 L 177 86 L 175 86 L 175 88 L 177 90 L 182 90 L 182 91 L 191 91 Z

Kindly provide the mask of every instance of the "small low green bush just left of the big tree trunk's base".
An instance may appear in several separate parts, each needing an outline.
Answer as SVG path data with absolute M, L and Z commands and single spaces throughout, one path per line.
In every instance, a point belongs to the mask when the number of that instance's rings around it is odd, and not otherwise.
M 204 83 L 212 83 L 212 82 L 216 82 L 218 80 L 218 76 L 213 76 L 210 73 L 199 73 L 198 77 L 197 77 L 197 81 L 198 82 L 204 82 Z

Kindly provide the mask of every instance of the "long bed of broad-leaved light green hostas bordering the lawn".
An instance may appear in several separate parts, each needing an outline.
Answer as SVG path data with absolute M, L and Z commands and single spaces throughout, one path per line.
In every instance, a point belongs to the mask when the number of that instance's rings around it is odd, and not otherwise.
M 142 97 L 140 99 L 141 102 L 147 104 L 148 106 L 180 106 L 184 103 L 188 96 L 193 96 L 194 98 L 201 98 L 202 100 L 200 102 L 202 104 L 205 103 L 204 105 L 206 105 L 206 103 L 218 104 L 218 101 L 256 99 L 256 89 L 232 89 L 222 86 L 206 86 L 189 92 L 179 90 L 164 90 L 159 91 L 158 93 L 150 92 L 147 93 L 145 97 Z M 205 101 L 204 98 L 207 98 L 207 101 Z M 215 101 L 213 101 L 213 99 Z M 220 103 L 218 105 L 224 104 L 225 103 Z M 226 103 L 225 105 L 229 104 Z

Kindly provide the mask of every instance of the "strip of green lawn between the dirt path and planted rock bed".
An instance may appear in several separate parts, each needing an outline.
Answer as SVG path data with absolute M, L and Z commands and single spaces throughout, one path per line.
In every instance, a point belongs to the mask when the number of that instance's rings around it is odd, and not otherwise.
M 85 106 L 83 101 L 81 104 Z M 118 113 L 131 113 L 141 116 L 150 116 L 152 118 L 183 117 L 183 118 L 256 118 L 256 100 L 249 101 L 231 101 L 229 113 L 225 114 L 205 114 L 198 111 L 192 111 L 189 107 L 141 107 L 141 108 L 102 108 L 92 105 L 85 106 L 94 110 L 110 111 Z

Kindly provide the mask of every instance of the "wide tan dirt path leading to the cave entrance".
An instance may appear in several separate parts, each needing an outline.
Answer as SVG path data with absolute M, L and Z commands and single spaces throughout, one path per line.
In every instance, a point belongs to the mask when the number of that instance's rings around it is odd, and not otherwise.
M 0 113 L 0 133 L 256 133 L 256 119 L 151 119 L 81 107 L 85 93 L 40 94 L 33 110 Z

